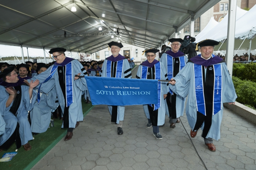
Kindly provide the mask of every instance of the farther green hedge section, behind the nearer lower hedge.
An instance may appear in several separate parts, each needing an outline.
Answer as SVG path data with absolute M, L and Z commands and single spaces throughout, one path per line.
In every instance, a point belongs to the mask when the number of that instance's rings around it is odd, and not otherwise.
M 233 76 L 256 82 L 256 63 L 233 63 Z

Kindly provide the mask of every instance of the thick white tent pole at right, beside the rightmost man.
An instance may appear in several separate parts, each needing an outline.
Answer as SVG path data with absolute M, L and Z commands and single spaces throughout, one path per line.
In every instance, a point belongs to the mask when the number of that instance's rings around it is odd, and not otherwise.
M 236 27 L 236 0 L 229 1 L 226 63 L 232 78 Z

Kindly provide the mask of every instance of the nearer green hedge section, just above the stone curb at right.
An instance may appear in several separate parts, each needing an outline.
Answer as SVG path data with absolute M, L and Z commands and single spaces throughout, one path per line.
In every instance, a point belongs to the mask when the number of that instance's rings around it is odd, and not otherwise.
M 236 101 L 256 108 L 256 83 L 235 76 L 232 79 L 237 94 Z

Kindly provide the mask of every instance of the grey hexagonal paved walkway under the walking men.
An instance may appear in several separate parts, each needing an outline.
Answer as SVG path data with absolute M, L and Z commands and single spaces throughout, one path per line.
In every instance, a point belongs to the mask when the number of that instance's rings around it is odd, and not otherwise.
M 92 109 L 84 122 L 74 130 L 69 141 L 61 140 L 33 169 L 70 170 L 142 170 L 142 169 L 205 169 L 182 127 L 160 128 L 162 140 L 146 128 L 147 119 L 142 106 L 126 106 L 123 135 L 110 123 L 107 106 Z M 181 118 L 189 132 L 186 115 Z M 221 124 L 221 139 L 214 140 L 216 152 L 211 152 L 198 135 L 192 139 L 208 170 L 256 169 L 256 126 L 225 109 Z

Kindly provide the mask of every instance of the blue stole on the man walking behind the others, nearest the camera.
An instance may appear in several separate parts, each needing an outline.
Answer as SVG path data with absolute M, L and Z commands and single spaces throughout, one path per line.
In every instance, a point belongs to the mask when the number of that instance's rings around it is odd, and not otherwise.
M 185 56 L 178 57 L 180 60 L 180 70 L 186 65 L 184 57 Z M 173 77 L 173 62 L 174 62 L 174 57 L 167 54 L 167 62 L 166 63 L 167 63 L 167 76 L 168 76 L 169 80 L 171 80 L 171 78 Z M 170 93 L 173 95 L 173 91 L 171 89 L 170 89 Z

